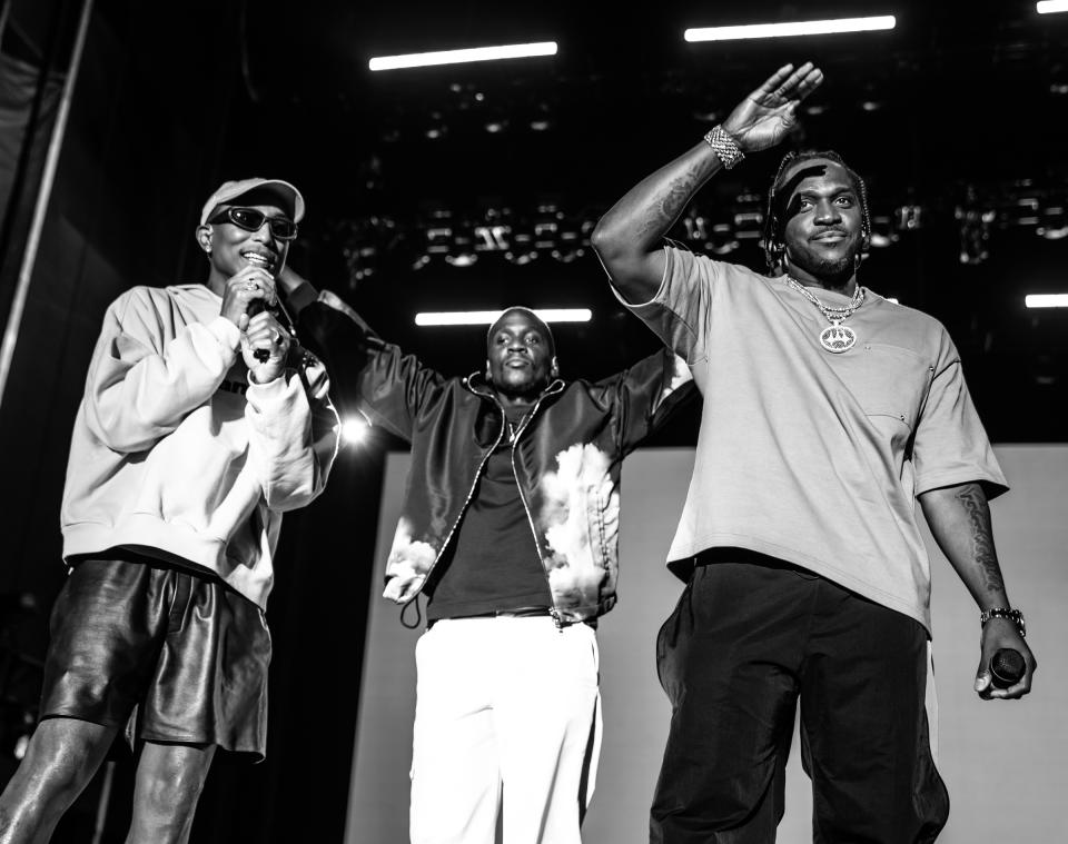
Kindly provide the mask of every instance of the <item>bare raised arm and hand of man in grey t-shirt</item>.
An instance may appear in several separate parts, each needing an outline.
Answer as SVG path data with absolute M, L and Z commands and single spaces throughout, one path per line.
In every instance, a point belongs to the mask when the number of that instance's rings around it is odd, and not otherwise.
M 722 128 L 742 152 L 779 143 L 797 123 L 798 105 L 823 81 L 811 62 L 794 70 L 779 68 L 723 121 Z M 632 188 L 593 230 L 593 247 L 624 299 L 652 299 L 664 274 L 661 238 L 686 203 L 722 162 L 712 147 L 699 142 Z

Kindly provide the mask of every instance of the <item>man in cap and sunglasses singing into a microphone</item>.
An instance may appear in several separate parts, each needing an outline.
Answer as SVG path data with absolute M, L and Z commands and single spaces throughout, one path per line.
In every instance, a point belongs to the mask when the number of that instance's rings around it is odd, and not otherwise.
M 271 310 L 303 215 L 288 182 L 226 182 L 196 230 L 207 282 L 135 287 L 108 308 L 71 438 L 41 722 L 0 796 L 4 844 L 48 841 L 117 737 L 140 752 L 127 841 L 145 844 L 188 840 L 217 747 L 264 756 L 281 514 L 322 491 L 337 449 L 326 371 Z

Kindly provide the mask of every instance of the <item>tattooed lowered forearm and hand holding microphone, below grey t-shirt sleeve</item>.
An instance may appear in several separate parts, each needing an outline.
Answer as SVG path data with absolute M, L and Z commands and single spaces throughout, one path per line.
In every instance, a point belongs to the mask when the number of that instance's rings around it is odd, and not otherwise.
M 938 547 L 965 582 L 979 608 L 1009 607 L 1001 566 L 993 549 L 990 507 L 982 487 L 971 483 L 931 489 L 920 495 L 920 506 Z M 1027 663 L 1027 671 L 1020 681 L 1006 689 L 995 688 L 990 682 L 990 657 L 1002 647 L 1019 651 Z M 976 673 L 976 692 L 980 697 L 1022 697 L 1031 691 L 1031 676 L 1037 663 L 1011 620 L 988 620 L 982 626 L 980 648 L 979 669 Z

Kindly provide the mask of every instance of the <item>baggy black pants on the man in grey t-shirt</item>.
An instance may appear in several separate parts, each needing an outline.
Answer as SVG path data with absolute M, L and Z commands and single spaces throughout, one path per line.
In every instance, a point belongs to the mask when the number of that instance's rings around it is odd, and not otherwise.
M 695 568 L 657 637 L 672 717 L 651 842 L 773 842 L 799 695 L 813 841 L 933 841 L 949 795 L 922 625 L 788 564 L 731 559 L 745 562 Z

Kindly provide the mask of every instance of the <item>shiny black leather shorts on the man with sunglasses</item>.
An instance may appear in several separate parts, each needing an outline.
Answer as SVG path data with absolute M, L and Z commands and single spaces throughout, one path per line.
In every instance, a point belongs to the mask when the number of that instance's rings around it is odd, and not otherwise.
M 122 557 L 78 562 L 56 599 L 41 719 L 115 726 L 131 748 L 138 739 L 218 745 L 260 761 L 263 610 L 209 573 Z

